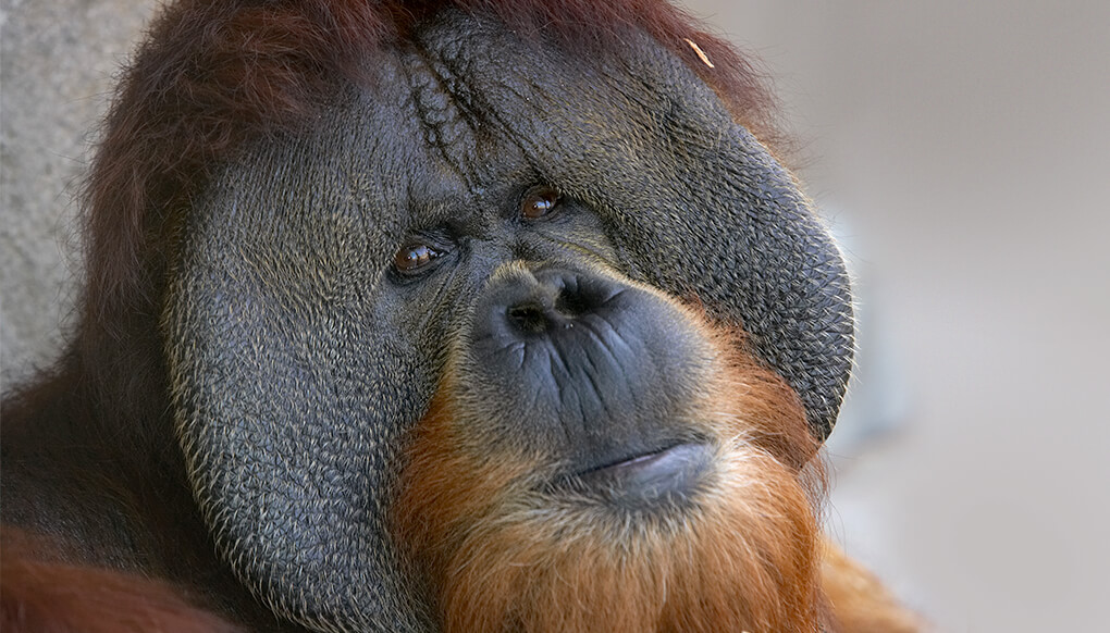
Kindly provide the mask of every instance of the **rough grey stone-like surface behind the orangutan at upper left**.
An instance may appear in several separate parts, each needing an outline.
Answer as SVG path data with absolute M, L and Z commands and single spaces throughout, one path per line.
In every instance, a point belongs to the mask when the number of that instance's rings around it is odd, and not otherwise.
M 0 3 L 0 387 L 50 363 L 80 268 L 73 196 L 95 127 L 157 6 Z

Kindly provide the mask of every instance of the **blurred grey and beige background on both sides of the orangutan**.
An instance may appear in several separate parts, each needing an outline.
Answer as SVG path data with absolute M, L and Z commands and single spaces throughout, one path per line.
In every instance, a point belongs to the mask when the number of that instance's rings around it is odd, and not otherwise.
M 154 7 L 0 2 L 4 388 L 57 353 L 71 197 Z M 829 532 L 940 631 L 1108 630 L 1110 2 L 686 7 L 776 78 L 857 278 Z

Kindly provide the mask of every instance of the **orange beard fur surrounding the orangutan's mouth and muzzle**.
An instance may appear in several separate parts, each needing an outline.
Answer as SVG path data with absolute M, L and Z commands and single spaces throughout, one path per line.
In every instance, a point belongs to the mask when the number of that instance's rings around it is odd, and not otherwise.
M 551 460 L 491 455 L 480 412 L 458 410 L 443 386 L 410 448 L 396 530 L 446 632 L 835 629 L 801 406 L 729 351 L 733 337 L 699 327 L 722 356 L 714 396 L 697 404 L 717 460 L 683 512 L 628 517 L 545 492 Z

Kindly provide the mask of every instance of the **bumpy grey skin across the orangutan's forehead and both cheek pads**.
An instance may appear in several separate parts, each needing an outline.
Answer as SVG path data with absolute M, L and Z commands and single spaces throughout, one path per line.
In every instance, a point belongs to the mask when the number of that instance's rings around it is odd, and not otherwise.
M 218 549 L 275 611 L 427 626 L 387 532 L 401 440 L 476 289 L 514 257 L 587 252 L 696 297 L 751 335 L 815 433 L 831 428 L 852 334 L 835 245 L 709 88 L 646 37 L 622 41 L 569 57 L 443 17 L 307 133 L 253 145 L 190 214 L 164 315 L 178 432 Z M 572 248 L 507 228 L 505 201 L 534 183 L 597 235 Z M 396 283 L 392 255 L 422 229 L 465 245 L 457 272 Z

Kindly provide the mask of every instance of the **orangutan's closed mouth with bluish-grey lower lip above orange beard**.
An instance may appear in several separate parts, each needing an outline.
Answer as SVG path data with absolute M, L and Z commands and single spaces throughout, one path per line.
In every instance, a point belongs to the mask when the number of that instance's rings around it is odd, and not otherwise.
M 679 443 L 577 473 L 566 489 L 618 508 L 688 501 L 709 471 L 713 448 Z

